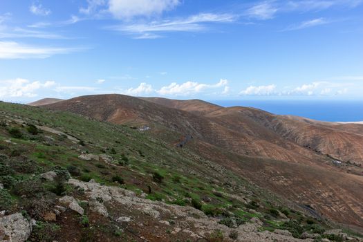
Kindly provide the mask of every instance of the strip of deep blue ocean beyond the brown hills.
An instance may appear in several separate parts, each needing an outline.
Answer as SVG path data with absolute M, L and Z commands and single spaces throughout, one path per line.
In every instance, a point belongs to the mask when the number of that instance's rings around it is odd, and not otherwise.
M 213 100 L 220 106 L 250 106 L 270 113 L 330 122 L 363 121 L 363 100 Z

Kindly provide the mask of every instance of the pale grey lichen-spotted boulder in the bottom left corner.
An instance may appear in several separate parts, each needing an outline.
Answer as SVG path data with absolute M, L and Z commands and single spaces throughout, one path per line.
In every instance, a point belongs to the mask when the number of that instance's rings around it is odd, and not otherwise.
M 20 213 L 0 218 L 0 241 L 24 242 L 31 232 L 32 226 Z

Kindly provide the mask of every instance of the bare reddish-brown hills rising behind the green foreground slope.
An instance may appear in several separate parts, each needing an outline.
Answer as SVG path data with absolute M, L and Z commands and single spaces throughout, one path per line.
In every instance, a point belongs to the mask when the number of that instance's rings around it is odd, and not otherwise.
M 149 125 L 150 135 L 174 145 L 193 136 L 185 146 L 190 151 L 329 218 L 363 227 L 363 136 L 337 128 L 344 124 L 200 100 L 125 95 L 88 95 L 46 107 L 115 124 Z M 341 167 L 331 157 L 344 161 Z M 348 162 L 353 160 L 355 165 Z

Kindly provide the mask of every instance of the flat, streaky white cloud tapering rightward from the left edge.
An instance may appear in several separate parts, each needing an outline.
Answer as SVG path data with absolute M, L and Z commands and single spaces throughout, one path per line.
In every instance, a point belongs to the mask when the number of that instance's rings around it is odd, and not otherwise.
M 46 58 L 56 54 L 66 54 L 82 48 L 52 48 L 30 46 L 15 41 L 0 41 L 0 59 Z

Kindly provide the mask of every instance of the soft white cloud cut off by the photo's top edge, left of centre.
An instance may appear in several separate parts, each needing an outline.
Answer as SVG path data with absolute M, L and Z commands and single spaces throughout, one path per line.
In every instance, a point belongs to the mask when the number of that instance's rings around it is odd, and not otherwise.
M 160 15 L 178 6 L 179 0 L 109 0 L 109 12 L 118 19 Z

